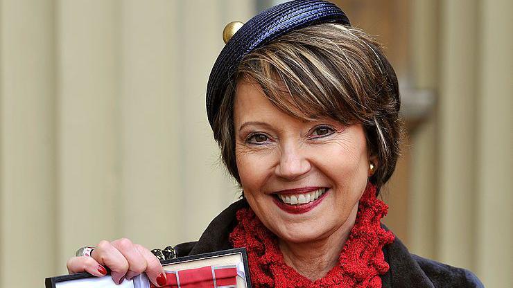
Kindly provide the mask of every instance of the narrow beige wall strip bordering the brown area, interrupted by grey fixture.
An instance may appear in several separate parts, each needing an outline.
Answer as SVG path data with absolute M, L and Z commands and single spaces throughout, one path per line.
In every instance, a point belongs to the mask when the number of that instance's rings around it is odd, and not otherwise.
M 437 88 L 438 51 L 438 1 L 412 1 L 412 71 L 416 89 L 426 89 L 435 93 Z M 412 171 L 410 181 L 410 217 L 408 235 L 413 253 L 427 258 L 435 257 L 435 199 L 436 185 L 436 123 L 435 111 L 426 117 L 411 135 Z

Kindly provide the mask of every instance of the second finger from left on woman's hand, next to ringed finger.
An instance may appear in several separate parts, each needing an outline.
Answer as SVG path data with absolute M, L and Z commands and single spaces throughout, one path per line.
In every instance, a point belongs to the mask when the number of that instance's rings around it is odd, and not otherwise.
M 125 256 L 110 242 L 103 240 L 98 243 L 91 257 L 99 264 L 109 267 L 110 275 L 115 283 L 123 282 L 130 266 Z

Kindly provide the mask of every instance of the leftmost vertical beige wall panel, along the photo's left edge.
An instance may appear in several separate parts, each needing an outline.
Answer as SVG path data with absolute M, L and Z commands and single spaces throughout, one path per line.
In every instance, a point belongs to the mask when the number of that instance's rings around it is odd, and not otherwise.
M 56 264 L 53 1 L 0 12 L 0 287 L 41 287 Z

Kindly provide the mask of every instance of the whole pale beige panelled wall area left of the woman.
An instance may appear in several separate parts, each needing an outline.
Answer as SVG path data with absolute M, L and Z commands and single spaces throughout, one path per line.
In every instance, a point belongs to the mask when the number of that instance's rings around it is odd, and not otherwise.
M 236 199 L 205 88 L 224 25 L 253 1 L 0 0 L 0 13 L 0 287 L 42 287 L 104 238 L 196 240 Z

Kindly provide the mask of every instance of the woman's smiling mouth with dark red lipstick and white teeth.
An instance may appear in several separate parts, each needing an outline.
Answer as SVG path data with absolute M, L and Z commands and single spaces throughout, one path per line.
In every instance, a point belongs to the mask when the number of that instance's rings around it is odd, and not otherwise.
M 312 210 L 320 204 L 324 196 L 329 192 L 329 188 L 319 188 L 311 192 L 297 194 L 275 194 L 275 204 L 281 210 L 292 214 L 302 214 Z

